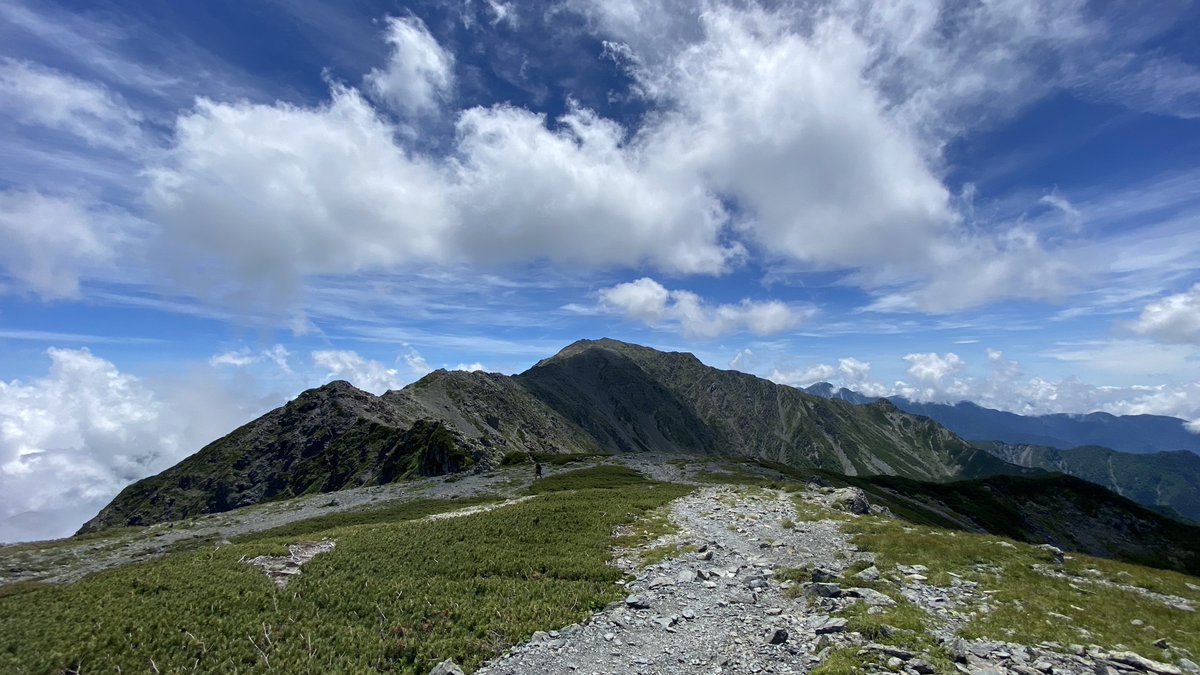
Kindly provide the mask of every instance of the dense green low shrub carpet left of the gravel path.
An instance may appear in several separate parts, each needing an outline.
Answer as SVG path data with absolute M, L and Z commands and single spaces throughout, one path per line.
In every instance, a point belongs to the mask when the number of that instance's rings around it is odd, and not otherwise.
M 0 597 L 0 671 L 424 674 L 444 658 L 474 668 L 616 599 L 613 530 L 688 491 L 613 474 L 558 484 L 575 491 L 469 518 L 307 532 L 337 548 L 283 591 L 239 561 L 280 555 L 295 537 Z

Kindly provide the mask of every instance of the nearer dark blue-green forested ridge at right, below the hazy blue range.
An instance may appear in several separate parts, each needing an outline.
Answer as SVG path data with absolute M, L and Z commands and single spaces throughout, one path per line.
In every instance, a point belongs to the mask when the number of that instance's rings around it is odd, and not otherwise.
M 1200 521 L 1200 455 L 1188 450 L 1130 454 L 1084 446 L 1060 450 L 1019 443 L 978 443 L 997 458 L 1078 476 L 1130 500 Z

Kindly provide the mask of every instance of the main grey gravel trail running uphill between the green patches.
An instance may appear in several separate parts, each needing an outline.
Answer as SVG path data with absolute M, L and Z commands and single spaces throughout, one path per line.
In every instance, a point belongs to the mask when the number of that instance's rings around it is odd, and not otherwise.
M 788 597 L 775 572 L 798 561 L 838 572 L 859 554 L 834 521 L 794 522 L 772 491 L 710 488 L 672 504 L 679 532 L 662 544 L 694 551 L 635 572 L 624 602 L 584 626 L 539 633 L 478 673 L 808 673 L 848 644 L 840 603 Z M 788 522 L 790 525 L 792 522 Z

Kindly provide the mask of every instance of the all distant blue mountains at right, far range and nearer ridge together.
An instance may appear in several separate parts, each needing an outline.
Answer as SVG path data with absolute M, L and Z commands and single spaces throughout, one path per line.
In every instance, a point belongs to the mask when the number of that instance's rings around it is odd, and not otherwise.
M 828 382 L 805 392 L 857 405 L 878 400 Z M 1026 417 L 970 402 L 888 400 L 974 440 L 977 447 L 1007 462 L 1075 476 L 1176 518 L 1200 521 L 1200 454 L 1195 452 L 1200 436 L 1189 434 L 1182 419 L 1108 413 Z M 1084 438 L 1090 441 L 1079 443 Z M 1181 449 L 1156 449 L 1163 446 Z

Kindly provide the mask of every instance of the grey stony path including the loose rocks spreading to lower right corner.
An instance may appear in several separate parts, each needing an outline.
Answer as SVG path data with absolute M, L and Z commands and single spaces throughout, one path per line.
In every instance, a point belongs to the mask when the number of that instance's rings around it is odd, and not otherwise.
M 829 501 L 823 494 L 808 496 Z M 671 519 L 679 531 L 654 545 L 678 545 L 678 555 L 644 568 L 634 551 L 618 557 L 617 565 L 634 577 L 624 601 L 582 625 L 539 632 L 476 673 L 794 674 L 811 671 L 842 647 L 865 656 L 865 670 L 856 670 L 864 673 L 1200 673 L 1096 645 L 965 640 L 956 629 L 980 605 L 986 611 L 989 602 L 973 583 L 935 586 L 922 566 L 880 571 L 872 565 L 851 575 L 864 584 L 886 578 L 896 597 L 928 614 L 925 644 L 954 661 L 953 670 L 938 669 L 928 652 L 876 644 L 838 616 L 853 603 L 869 605 L 869 614 L 894 603 L 839 579 L 853 562 L 872 557 L 850 542 L 839 521 L 802 521 L 790 495 L 730 486 L 677 500 Z M 798 574 L 799 568 L 805 572 Z

